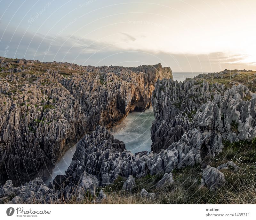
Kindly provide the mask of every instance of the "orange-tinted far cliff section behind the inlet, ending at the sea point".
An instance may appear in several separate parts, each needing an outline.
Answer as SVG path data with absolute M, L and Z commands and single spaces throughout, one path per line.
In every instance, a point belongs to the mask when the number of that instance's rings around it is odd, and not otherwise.
M 172 71 L 161 64 L 87 67 L 86 72 L 57 80 L 79 101 L 90 131 L 97 125 L 110 128 L 130 111 L 145 110 L 151 104 L 156 80 L 172 77 Z

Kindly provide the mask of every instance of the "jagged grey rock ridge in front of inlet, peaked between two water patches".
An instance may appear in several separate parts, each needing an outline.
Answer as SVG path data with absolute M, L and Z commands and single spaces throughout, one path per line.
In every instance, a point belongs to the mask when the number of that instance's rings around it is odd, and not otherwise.
M 82 174 L 87 172 L 99 180 L 100 186 L 114 183 L 118 176 L 131 178 L 144 177 L 148 174 L 166 173 L 158 186 L 172 183 L 174 168 L 182 168 L 201 162 L 201 145 L 208 143 L 211 133 L 200 133 L 193 129 L 185 133 L 179 142 L 169 148 L 162 149 L 158 154 L 138 153 L 133 155 L 125 149 L 122 141 L 116 140 L 104 127 L 97 126 L 90 135 L 85 135 L 77 144 L 73 160 L 63 176 L 62 185 L 70 193 L 80 182 Z M 169 173 L 169 174 L 167 174 Z M 60 179 L 60 177 L 56 177 Z M 167 184 L 168 185 L 168 184 Z M 56 187 L 56 186 L 55 186 Z

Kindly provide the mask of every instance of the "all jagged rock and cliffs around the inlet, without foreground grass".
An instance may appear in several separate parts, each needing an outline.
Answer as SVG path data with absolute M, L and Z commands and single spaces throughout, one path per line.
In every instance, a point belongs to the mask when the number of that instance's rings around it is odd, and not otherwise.
M 200 77 L 184 83 L 160 80 L 171 76 L 170 68 L 160 64 L 96 68 L 52 62 L 44 63 L 46 72 L 36 74 L 28 70 L 42 65 L 39 61 L 17 60 L 16 67 L 3 59 L 0 63 L 4 68 L 0 72 L 0 183 L 12 178 L 19 184 L 46 175 L 68 143 L 92 131 L 79 141 L 66 175 L 58 175 L 53 186 L 44 185 L 40 178 L 20 187 L 7 181 L 0 187 L 1 201 L 51 203 L 63 195 L 81 200 L 86 193 L 96 195 L 98 187 L 114 183 L 120 176 L 126 180 L 124 190 L 130 191 L 135 178 L 161 173 L 164 176 L 156 184 L 159 189 L 173 183 L 173 169 L 217 155 L 223 140 L 252 140 L 256 136 L 256 95 L 244 85 L 225 90 L 224 85 L 210 85 Z M 54 69 L 56 65 L 59 71 Z M 157 79 L 152 96 L 154 152 L 132 154 L 106 128 L 96 125 L 109 128 L 129 111 L 147 108 Z M 221 186 L 225 178 L 219 169 L 237 168 L 230 161 L 222 165 L 204 169 L 202 186 Z M 20 172 L 27 176 L 20 176 Z M 17 176 L 21 178 L 15 179 Z M 150 194 L 141 191 L 145 198 L 156 197 Z M 104 198 L 101 191 L 96 200 Z

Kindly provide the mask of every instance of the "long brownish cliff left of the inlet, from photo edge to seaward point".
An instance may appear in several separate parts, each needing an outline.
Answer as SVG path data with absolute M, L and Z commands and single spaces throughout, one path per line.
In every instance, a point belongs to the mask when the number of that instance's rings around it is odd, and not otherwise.
M 1 58 L 1 57 L 0 57 Z M 0 72 L 0 183 L 47 177 L 97 125 L 111 127 L 151 103 L 161 64 L 126 68 L 4 59 Z

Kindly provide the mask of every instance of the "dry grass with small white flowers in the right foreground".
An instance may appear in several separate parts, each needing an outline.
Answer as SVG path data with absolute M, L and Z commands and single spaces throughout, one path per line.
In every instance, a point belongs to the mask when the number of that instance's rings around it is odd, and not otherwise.
M 217 167 L 220 164 L 233 161 L 240 169 L 221 170 L 226 178 L 225 185 L 217 190 L 209 190 L 201 186 L 201 165 L 173 170 L 174 183 L 161 190 L 156 189 L 156 183 L 163 175 L 136 179 L 136 187 L 129 192 L 122 191 L 123 178 L 102 188 L 107 194 L 103 204 L 256 204 L 256 140 L 230 143 L 223 141 L 224 148 L 215 158 L 205 158 L 205 165 Z M 156 193 L 156 200 L 140 197 L 141 189 Z M 67 204 L 97 204 L 95 197 L 82 201 L 62 201 Z

